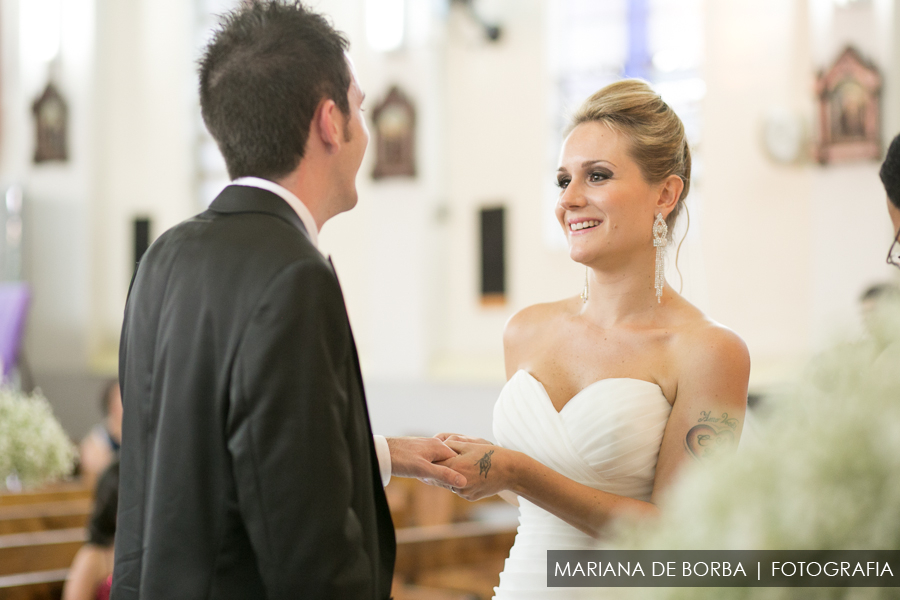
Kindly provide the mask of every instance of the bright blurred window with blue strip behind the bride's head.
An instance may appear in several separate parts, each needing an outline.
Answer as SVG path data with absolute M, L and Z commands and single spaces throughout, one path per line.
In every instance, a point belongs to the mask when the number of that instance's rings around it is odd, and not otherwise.
M 684 122 L 692 151 L 692 205 L 702 172 L 700 102 L 706 93 L 702 0 L 558 0 L 550 5 L 551 147 L 548 149 L 545 240 L 564 247 L 553 214 L 556 170 L 569 116 L 598 89 L 623 77 L 650 82 Z

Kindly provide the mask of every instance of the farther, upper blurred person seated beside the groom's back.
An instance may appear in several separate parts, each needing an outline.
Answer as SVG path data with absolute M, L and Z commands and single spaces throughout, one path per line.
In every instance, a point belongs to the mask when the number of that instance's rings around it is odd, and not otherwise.
M 81 477 L 87 487 L 119 456 L 122 442 L 122 392 L 119 380 L 112 379 L 103 387 L 100 397 L 103 422 L 97 423 L 79 446 Z

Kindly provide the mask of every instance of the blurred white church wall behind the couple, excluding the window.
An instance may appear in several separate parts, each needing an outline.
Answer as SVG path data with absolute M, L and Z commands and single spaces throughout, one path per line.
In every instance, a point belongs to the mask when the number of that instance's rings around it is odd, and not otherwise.
M 198 210 L 193 3 L 63 3 L 71 11 L 61 82 L 72 161 L 36 167 L 28 108 L 45 75 L 18 53 L 24 1 L 2 0 L 0 179 L 22 182 L 30 202 L 28 349 L 36 370 L 111 370 L 132 268 L 131 219 L 151 216 L 158 235 Z M 552 2 L 480 2 L 504 26 L 502 41 L 488 44 L 457 9 L 410 0 L 421 26 L 410 28 L 418 33 L 406 50 L 388 55 L 367 46 L 364 0 L 317 4 L 348 33 L 370 109 L 399 83 L 419 111 L 420 176 L 373 182 L 370 153 L 359 206 L 322 232 L 366 375 L 502 380 L 508 316 L 577 294 L 583 277 L 544 236 L 553 167 Z M 882 266 L 890 240 L 877 164 L 776 165 L 761 145 L 762 118 L 773 107 L 813 122 L 813 73 L 847 41 L 887 76 L 886 141 L 900 128 L 895 1 L 860 4 L 706 5 L 707 96 L 697 149 L 704 174 L 682 270 L 690 275 L 689 299 L 747 340 L 760 385 L 781 378 L 833 327 L 852 327 L 862 285 L 891 275 Z M 499 203 L 509 217 L 508 304 L 486 308 L 477 294 L 477 215 Z

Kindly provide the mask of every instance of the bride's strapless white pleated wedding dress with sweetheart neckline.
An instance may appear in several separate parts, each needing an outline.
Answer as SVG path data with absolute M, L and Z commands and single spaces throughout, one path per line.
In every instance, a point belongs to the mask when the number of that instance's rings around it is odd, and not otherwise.
M 494 438 L 578 483 L 649 500 L 671 409 L 655 383 L 618 378 L 592 383 L 557 412 L 541 382 L 518 371 L 494 406 Z M 547 587 L 547 550 L 608 548 L 520 497 L 516 541 L 494 598 L 614 598 L 615 588 Z

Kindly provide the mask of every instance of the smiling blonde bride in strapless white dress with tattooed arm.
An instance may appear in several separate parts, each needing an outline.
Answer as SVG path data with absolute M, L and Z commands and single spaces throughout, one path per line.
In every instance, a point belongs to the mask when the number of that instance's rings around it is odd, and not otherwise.
M 497 445 L 437 436 L 458 452 L 443 464 L 465 475 L 460 496 L 518 497 L 498 599 L 597 597 L 547 588 L 546 551 L 603 548 L 613 519 L 652 519 L 682 465 L 740 438 L 747 348 L 662 271 L 690 170 L 681 120 L 644 82 L 601 89 L 572 120 L 556 217 L 584 291 L 507 324 Z

